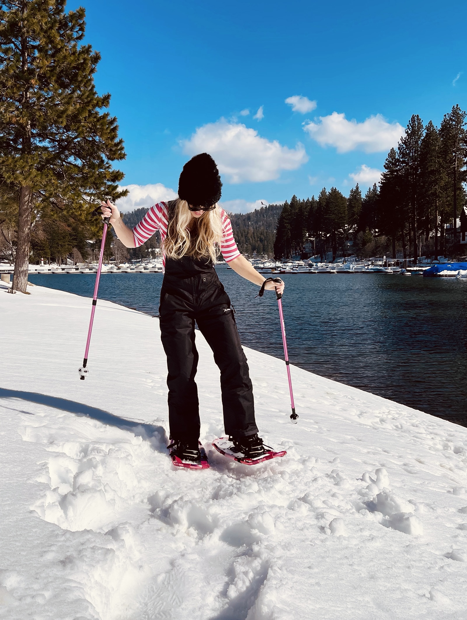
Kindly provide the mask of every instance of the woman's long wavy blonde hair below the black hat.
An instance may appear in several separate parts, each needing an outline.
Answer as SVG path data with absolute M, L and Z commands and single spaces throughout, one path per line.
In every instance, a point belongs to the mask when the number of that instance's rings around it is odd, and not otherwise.
M 216 263 L 221 241 L 222 221 L 218 206 L 212 211 L 205 211 L 199 218 L 194 218 L 188 209 L 188 202 L 177 198 L 175 216 L 168 223 L 163 244 L 166 256 L 176 260 L 183 256 L 194 259 L 209 257 Z

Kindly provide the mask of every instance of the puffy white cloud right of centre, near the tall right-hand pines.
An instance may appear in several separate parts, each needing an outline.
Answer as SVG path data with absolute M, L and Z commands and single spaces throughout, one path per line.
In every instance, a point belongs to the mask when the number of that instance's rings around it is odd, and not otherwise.
M 355 119 L 347 120 L 345 114 L 338 112 L 320 117 L 319 123 L 305 124 L 303 131 L 307 131 L 321 146 L 335 146 L 338 153 L 356 149 L 365 153 L 389 151 L 404 135 L 402 125 L 388 123 L 380 114 L 357 123 Z

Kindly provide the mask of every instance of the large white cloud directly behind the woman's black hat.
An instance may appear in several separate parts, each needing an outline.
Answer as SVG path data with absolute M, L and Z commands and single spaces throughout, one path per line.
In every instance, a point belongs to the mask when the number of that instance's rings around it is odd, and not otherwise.
M 229 183 L 271 181 L 278 179 L 282 170 L 296 170 L 308 161 L 303 144 L 289 149 L 225 118 L 198 127 L 181 145 L 188 155 L 209 153 Z

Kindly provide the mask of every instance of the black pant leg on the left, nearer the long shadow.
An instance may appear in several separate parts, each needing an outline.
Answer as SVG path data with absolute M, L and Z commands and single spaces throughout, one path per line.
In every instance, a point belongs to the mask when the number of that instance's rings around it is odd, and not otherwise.
M 199 438 L 198 351 L 194 318 L 176 296 L 165 293 L 159 308 L 160 339 L 167 355 L 168 422 L 172 439 Z

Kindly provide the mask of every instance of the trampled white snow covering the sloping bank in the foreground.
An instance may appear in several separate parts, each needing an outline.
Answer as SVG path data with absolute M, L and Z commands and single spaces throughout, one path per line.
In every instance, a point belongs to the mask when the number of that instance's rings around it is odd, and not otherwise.
M 287 456 L 241 466 L 197 332 L 211 469 L 174 469 L 157 319 L 98 301 L 80 381 L 90 299 L 0 286 L 0 618 L 467 617 L 467 428 L 294 366 L 292 425 L 284 362 L 246 349 Z

